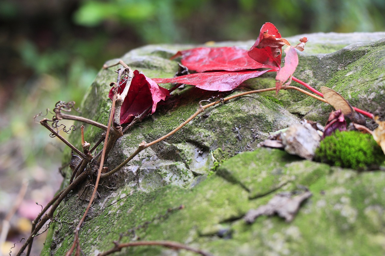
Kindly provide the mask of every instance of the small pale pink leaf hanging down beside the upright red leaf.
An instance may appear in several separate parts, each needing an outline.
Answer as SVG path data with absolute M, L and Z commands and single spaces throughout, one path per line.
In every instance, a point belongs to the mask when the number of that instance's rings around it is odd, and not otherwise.
M 295 69 L 298 66 L 298 55 L 297 51 L 295 50 L 294 47 L 289 46 L 288 48 L 285 49 L 285 65 L 280 68 L 277 71 L 277 75 L 275 77 L 276 83 L 275 83 L 275 88 L 276 88 L 276 93 L 280 91 L 281 86 L 293 75 Z M 287 83 L 287 85 L 290 85 L 291 80 Z

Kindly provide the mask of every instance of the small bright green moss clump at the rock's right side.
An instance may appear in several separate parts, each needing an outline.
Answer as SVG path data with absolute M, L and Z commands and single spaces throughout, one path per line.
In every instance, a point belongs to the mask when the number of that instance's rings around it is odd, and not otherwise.
M 385 161 L 385 155 L 372 135 L 337 130 L 321 141 L 315 159 L 344 168 L 374 170 Z

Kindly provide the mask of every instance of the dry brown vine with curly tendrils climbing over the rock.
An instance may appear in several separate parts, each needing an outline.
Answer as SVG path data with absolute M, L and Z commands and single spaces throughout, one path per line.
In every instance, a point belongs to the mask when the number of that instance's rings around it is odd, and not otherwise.
M 54 108 L 54 116 L 52 119 L 48 118 L 43 118 L 40 121 L 40 124 L 43 125 L 45 128 L 47 128 L 50 132 L 50 136 L 56 136 L 60 140 L 62 140 L 67 146 L 69 146 L 73 152 L 75 152 L 78 156 L 73 155 L 72 160 L 77 159 L 76 161 L 71 161 L 70 166 L 72 166 L 73 170 L 73 175 L 70 179 L 69 185 L 64 188 L 62 191 L 60 191 L 48 204 L 47 206 L 42 209 L 41 213 L 33 220 L 32 222 L 32 230 L 30 236 L 26 239 L 25 243 L 22 245 L 20 250 L 17 253 L 17 256 L 21 255 L 23 251 L 28 246 L 27 253 L 26 255 L 30 255 L 30 251 L 32 248 L 32 243 L 33 243 L 33 238 L 39 233 L 39 230 L 44 226 L 44 224 L 53 219 L 54 217 L 54 212 L 59 206 L 59 204 L 67 197 L 67 195 L 70 193 L 72 190 L 76 190 L 79 187 L 79 184 L 84 182 L 86 179 L 89 179 L 91 181 L 94 181 L 94 189 L 92 191 L 92 196 L 89 199 L 89 204 L 82 216 L 82 219 L 79 221 L 78 225 L 76 226 L 74 230 L 74 242 L 67 251 L 66 255 L 70 256 L 75 252 L 75 255 L 80 255 L 80 243 L 79 243 L 79 230 L 81 228 L 81 225 L 84 221 L 84 219 L 87 216 L 87 213 L 94 201 L 95 195 L 97 194 L 97 188 L 99 185 L 100 179 L 107 179 L 117 171 L 121 170 L 123 166 L 125 166 L 134 156 L 136 156 L 139 152 L 142 150 L 168 138 L 169 136 L 173 135 L 176 133 L 178 130 L 180 130 L 183 126 L 185 126 L 187 123 L 189 123 L 191 120 L 196 118 L 200 113 L 203 113 L 207 108 L 217 105 L 219 103 L 224 103 L 226 101 L 232 100 L 234 98 L 244 96 L 244 95 L 249 95 L 252 93 L 261 93 L 265 91 L 275 91 L 276 88 L 265 88 L 261 90 L 254 90 L 254 91 L 247 91 L 243 93 L 238 93 L 236 95 L 228 96 L 226 98 L 220 98 L 219 100 L 216 100 L 214 102 L 211 102 L 210 100 L 202 100 L 199 102 L 199 108 L 198 110 L 191 115 L 186 121 L 181 123 L 177 128 L 174 130 L 170 131 L 166 135 L 162 136 L 161 138 L 158 138 L 157 140 L 151 141 L 149 143 L 146 143 L 145 141 L 142 141 L 138 145 L 138 148 L 132 155 L 130 155 L 125 161 L 123 161 L 120 165 L 116 166 L 113 170 L 108 171 L 106 167 L 103 167 L 105 158 L 109 155 L 110 151 L 112 150 L 115 141 L 123 136 L 123 132 L 129 130 L 132 125 L 137 123 L 138 121 L 141 121 L 145 116 L 148 115 L 149 109 L 145 110 L 143 113 L 140 115 L 136 116 L 134 120 L 123 130 L 122 126 L 120 125 L 120 111 L 121 111 L 121 106 L 124 101 L 124 99 L 127 96 L 127 92 L 131 83 L 131 80 L 134 76 L 134 73 L 132 70 L 124 64 L 122 61 L 119 62 L 122 66 L 124 66 L 123 69 L 119 69 L 117 71 L 118 76 L 117 76 L 117 81 L 111 83 L 111 86 L 114 86 L 114 98 L 112 100 L 112 106 L 111 106 L 111 111 L 110 111 L 110 116 L 109 116 L 109 121 L 108 125 L 103 125 L 101 123 L 98 123 L 96 121 L 81 117 L 81 116 L 76 116 L 76 115 L 70 115 L 68 114 L 71 110 L 74 109 L 74 102 L 58 102 Z M 104 67 L 107 68 L 107 67 Z M 127 82 L 126 87 L 121 93 L 118 93 L 119 84 L 121 84 L 122 80 L 124 79 L 125 82 Z M 313 95 L 312 93 L 309 93 L 305 90 L 302 90 L 298 87 L 295 86 L 289 86 L 289 85 L 283 85 L 282 88 L 283 90 L 298 90 L 302 93 L 305 93 L 306 95 L 309 95 L 313 98 L 316 98 L 318 100 L 321 100 L 323 102 L 326 102 L 323 98 L 320 98 L 316 95 Z M 209 101 L 208 104 L 206 105 L 201 105 L 204 101 Z M 47 113 L 49 113 L 47 111 Z M 40 114 L 41 115 L 41 114 Z M 36 116 L 35 116 L 36 117 Z M 75 121 L 80 121 L 83 123 L 88 123 L 90 125 L 96 126 L 105 132 L 101 135 L 100 140 L 94 145 L 91 149 L 90 144 L 87 143 L 87 141 L 84 141 L 84 135 L 83 135 L 83 128 L 81 127 L 82 130 L 82 151 L 77 149 L 74 145 L 72 145 L 69 141 L 67 141 L 63 136 L 59 134 L 59 131 L 65 131 L 65 132 L 70 132 L 71 130 L 74 130 L 73 127 L 66 128 L 65 126 L 59 125 L 59 121 L 62 119 L 67 119 L 67 120 L 75 120 Z M 92 156 L 92 152 L 95 150 L 95 148 L 104 140 L 104 145 L 103 145 L 103 150 L 98 153 L 96 156 Z M 106 171 L 105 173 L 102 173 L 102 170 Z M 50 208 L 50 206 L 52 206 Z M 48 209 L 50 210 L 48 211 Z M 47 212 L 48 211 L 48 212 Z M 46 213 L 47 212 L 47 213 Z M 199 253 L 201 255 L 211 255 L 207 252 L 201 251 L 199 249 L 194 249 L 189 246 L 186 246 L 184 244 L 176 243 L 174 241 L 138 241 L 138 242 L 131 242 L 131 243 L 119 243 L 119 242 L 114 242 L 114 247 L 108 251 L 105 251 L 104 253 L 100 253 L 99 255 L 108 255 L 116 251 L 120 251 L 124 247 L 128 246 L 149 246 L 149 245 L 157 245 L 157 246 L 165 246 L 168 248 L 172 249 L 186 249 L 195 253 Z

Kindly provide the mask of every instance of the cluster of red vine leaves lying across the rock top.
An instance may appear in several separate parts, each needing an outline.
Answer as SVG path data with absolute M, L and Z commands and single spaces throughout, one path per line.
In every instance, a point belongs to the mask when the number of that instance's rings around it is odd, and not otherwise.
M 303 49 L 307 38 L 301 38 L 296 47 Z M 147 78 L 134 71 L 129 93 L 121 108 L 121 124 L 130 123 L 134 117 L 151 107 L 151 114 L 160 101 L 167 100 L 169 92 L 157 83 L 179 83 L 194 85 L 209 91 L 231 91 L 244 81 L 258 77 L 269 71 L 276 71 L 276 92 L 289 80 L 298 65 L 295 47 L 286 50 L 285 66 L 281 68 L 282 47 L 290 43 L 281 38 L 281 34 L 272 23 L 265 23 L 259 37 L 250 48 L 238 47 L 201 47 L 177 52 L 172 58 L 182 57 L 181 63 L 195 73 L 174 78 Z M 126 86 L 126 80 L 119 83 L 120 90 Z M 109 97 L 112 99 L 112 89 Z

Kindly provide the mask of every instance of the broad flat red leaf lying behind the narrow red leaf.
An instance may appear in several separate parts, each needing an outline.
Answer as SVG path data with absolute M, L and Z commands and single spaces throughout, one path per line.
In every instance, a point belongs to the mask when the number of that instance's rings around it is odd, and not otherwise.
M 263 65 L 249 57 L 246 50 L 237 47 L 201 47 L 177 52 L 172 58 L 182 56 L 182 65 L 189 70 L 204 71 L 226 70 L 239 71 L 257 68 L 274 68 Z

